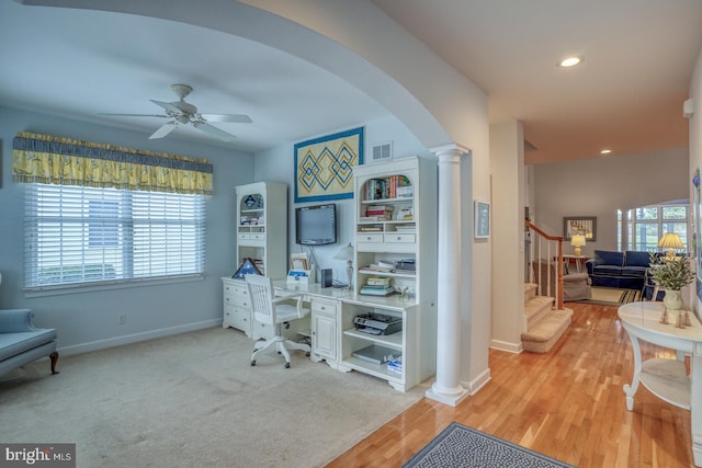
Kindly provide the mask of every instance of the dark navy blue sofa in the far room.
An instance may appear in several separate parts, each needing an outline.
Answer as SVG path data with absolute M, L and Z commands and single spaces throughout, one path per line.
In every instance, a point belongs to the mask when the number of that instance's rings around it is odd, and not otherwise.
M 642 290 L 650 265 L 650 255 L 648 252 L 634 250 L 596 250 L 585 265 L 592 286 Z

